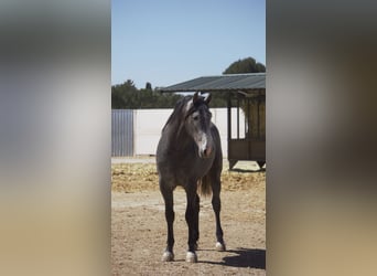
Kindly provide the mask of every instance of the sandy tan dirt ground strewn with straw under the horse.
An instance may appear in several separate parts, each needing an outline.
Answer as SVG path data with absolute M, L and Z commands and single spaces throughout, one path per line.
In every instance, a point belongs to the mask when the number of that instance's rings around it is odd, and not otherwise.
M 227 167 L 225 167 L 227 168 Z M 211 197 L 201 197 L 196 264 L 186 263 L 186 200 L 174 191 L 175 261 L 161 262 L 166 243 L 164 203 L 152 162 L 111 164 L 112 275 L 266 275 L 265 172 L 222 174 L 225 252 L 215 251 Z

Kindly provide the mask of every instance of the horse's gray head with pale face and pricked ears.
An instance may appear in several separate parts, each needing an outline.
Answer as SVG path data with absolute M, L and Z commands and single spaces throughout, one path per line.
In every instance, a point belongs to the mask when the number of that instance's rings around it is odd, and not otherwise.
M 185 129 L 197 145 L 201 158 L 211 157 L 215 148 L 211 134 L 209 102 L 211 94 L 204 98 L 196 92 L 185 106 Z

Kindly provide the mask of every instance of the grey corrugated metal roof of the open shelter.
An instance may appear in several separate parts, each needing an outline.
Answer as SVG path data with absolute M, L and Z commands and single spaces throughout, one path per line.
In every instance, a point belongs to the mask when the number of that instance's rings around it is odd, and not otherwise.
M 202 76 L 168 87 L 160 92 L 252 92 L 266 89 L 266 73 L 228 74 L 219 76 Z

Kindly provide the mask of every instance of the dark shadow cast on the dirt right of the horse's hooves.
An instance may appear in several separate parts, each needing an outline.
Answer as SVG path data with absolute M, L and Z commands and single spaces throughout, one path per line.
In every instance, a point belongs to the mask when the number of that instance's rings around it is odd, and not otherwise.
M 266 269 L 266 251 L 265 250 L 237 248 L 237 250 L 230 250 L 226 252 L 237 254 L 237 255 L 226 256 L 223 258 L 223 262 L 200 261 L 200 263 Z

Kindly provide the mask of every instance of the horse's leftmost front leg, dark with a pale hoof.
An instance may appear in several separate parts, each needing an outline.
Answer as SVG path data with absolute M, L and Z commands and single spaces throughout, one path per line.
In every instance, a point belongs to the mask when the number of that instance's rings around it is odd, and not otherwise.
M 173 191 L 166 188 L 164 183 L 160 180 L 160 190 L 165 202 L 165 219 L 168 224 L 168 241 L 166 250 L 162 255 L 162 261 L 171 262 L 174 261 L 173 246 L 174 246 L 174 233 L 173 233 L 173 222 L 174 222 L 174 210 L 173 210 Z

